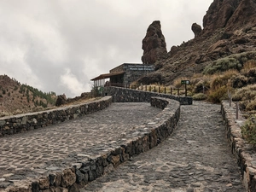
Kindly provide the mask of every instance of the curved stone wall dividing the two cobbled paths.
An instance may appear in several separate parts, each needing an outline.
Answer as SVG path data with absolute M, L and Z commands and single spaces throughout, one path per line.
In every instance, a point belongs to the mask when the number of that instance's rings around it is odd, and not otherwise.
M 137 128 L 124 136 L 128 140 L 125 143 L 118 143 L 106 154 L 98 154 L 94 157 L 87 157 L 75 162 L 72 167 L 63 172 L 52 172 L 48 176 L 40 177 L 38 180 L 27 183 L 24 187 L 11 187 L 8 192 L 78 192 L 85 184 L 111 172 L 114 167 L 119 166 L 132 156 L 141 154 L 154 148 L 166 137 L 172 134 L 180 117 L 180 103 L 174 100 L 153 97 L 151 105 L 156 108 L 164 108 L 155 119 L 147 122 L 146 125 Z

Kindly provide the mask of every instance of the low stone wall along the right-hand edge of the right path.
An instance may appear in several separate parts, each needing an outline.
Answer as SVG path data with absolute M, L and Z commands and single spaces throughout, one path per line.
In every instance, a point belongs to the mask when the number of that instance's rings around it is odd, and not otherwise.
M 247 191 L 256 191 L 256 155 L 255 148 L 247 144 L 241 137 L 241 124 L 244 119 L 236 119 L 236 105 L 224 101 L 221 104 L 221 112 L 224 126 L 232 153 L 235 155 L 237 164 L 241 168 L 243 183 Z M 254 160 L 253 160 L 254 159 Z

